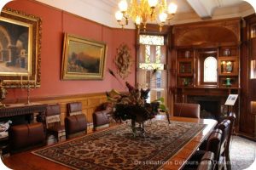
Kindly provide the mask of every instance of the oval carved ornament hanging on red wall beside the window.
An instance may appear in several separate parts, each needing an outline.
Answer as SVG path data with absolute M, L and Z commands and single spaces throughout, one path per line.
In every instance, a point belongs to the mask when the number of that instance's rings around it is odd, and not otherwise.
M 119 76 L 122 79 L 131 73 L 131 48 L 125 43 L 121 43 L 117 48 L 117 55 L 114 59 Z

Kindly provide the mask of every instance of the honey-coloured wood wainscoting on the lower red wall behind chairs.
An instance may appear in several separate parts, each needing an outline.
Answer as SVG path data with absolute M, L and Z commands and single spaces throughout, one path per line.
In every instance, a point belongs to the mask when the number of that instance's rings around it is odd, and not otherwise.
M 105 93 L 98 94 L 77 94 L 77 95 L 64 95 L 53 96 L 46 98 L 31 99 L 32 103 L 41 104 L 59 104 L 61 105 L 61 124 L 64 125 L 64 119 L 67 116 L 67 104 L 71 102 L 82 102 L 83 113 L 87 118 L 87 122 L 92 122 L 92 114 L 96 107 L 107 101 Z M 17 101 L 8 100 L 5 103 L 14 104 Z M 26 99 L 21 99 L 18 103 L 26 103 Z

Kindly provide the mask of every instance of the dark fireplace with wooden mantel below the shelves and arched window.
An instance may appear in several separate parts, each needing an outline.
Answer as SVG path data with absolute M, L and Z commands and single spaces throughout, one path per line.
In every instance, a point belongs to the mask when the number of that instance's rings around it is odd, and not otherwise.
M 222 120 L 228 112 L 236 113 L 236 124 L 240 115 L 241 88 L 215 88 L 215 87 L 178 87 L 174 91 L 174 100 L 177 103 L 195 103 L 201 105 L 201 118 L 214 118 Z M 232 107 L 224 105 L 230 94 L 238 94 L 236 104 Z

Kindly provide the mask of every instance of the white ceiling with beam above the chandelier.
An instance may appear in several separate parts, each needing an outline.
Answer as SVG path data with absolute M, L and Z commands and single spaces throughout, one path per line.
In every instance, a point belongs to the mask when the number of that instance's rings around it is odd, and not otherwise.
M 105 26 L 119 27 L 114 18 L 119 0 L 37 0 L 40 3 L 60 8 L 94 20 Z M 251 5 L 242 0 L 167 0 L 177 3 L 177 14 L 171 24 L 182 24 L 206 19 L 224 19 L 243 17 L 253 14 Z M 134 28 L 130 22 L 126 28 Z

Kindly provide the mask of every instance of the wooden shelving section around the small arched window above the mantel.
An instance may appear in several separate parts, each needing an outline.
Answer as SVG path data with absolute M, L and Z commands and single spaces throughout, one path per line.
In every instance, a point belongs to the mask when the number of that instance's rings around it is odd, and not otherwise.
M 201 57 L 202 53 L 217 59 L 217 82 L 215 83 L 203 82 L 205 58 Z M 239 68 L 239 48 L 236 46 L 177 49 L 177 87 L 180 88 L 240 88 Z

